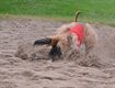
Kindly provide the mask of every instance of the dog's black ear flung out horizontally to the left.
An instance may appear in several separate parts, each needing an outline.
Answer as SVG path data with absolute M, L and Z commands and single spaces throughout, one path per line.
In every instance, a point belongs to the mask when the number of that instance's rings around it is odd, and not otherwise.
M 39 38 L 39 40 L 36 40 L 36 41 L 34 42 L 34 46 L 35 46 L 35 45 L 51 44 L 51 41 L 53 41 L 53 38 L 50 38 L 50 37 Z

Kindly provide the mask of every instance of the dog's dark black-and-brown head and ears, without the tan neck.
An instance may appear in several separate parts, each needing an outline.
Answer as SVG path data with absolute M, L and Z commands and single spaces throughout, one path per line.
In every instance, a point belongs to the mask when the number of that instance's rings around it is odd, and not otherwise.
M 51 46 L 50 51 L 49 51 L 49 57 L 51 58 L 56 58 L 56 57 L 60 57 L 61 56 L 61 48 L 60 46 L 58 46 L 58 37 L 56 36 L 51 36 L 51 37 L 44 37 L 44 38 L 39 38 L 37 41 L 34 42 L 34 46 L 35 45 L 48 45 Z

